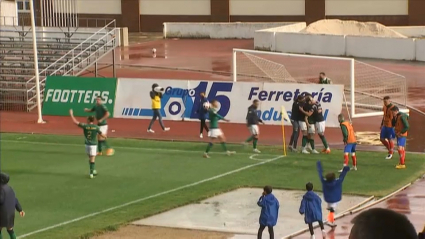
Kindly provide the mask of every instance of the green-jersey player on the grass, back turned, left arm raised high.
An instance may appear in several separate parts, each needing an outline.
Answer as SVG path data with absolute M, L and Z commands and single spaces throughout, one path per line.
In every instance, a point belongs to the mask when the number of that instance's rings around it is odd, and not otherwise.
M 74 113 L 72 109 L 69 110 L 69 115 L 71 115 L 72 121 L 78 127 L 83 129 L 85 145 L 86 145 L 86 153 L 89 156 L 89 164 L 90 164 L 90 178 L 94 178 L 97 175 L 97 172 L 94 167 L 96 152 L 97 152 L 97 136 L 100 135 L 106 139 L 106 135 L 103 135 L 100 127 L 94 124 L 94 117 L 89 116 L 87 118 L 87 124 L 80 123 L 75 119 Z

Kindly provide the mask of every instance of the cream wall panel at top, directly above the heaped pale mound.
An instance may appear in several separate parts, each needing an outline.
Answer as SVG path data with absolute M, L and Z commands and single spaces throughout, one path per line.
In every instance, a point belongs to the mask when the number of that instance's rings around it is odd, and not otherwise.
M 408 15 L 408 0 L 326 0 L 327 16 Z

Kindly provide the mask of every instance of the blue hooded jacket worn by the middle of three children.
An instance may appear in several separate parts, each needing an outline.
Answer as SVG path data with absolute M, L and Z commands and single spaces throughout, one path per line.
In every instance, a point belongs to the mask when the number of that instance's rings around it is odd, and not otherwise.
M 307 224 L 322 221 L 322 199 L 313 191 L 308 191 L 301 200 L 300 214 L 304 214 Z

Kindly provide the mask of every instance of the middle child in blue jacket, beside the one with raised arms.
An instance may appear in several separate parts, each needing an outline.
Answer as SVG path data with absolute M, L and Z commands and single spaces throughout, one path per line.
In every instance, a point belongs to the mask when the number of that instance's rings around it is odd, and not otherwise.
M 304 221 L 308 224 L 308 229 L 310 230 L 311 239 L 314 237 L 314 228 L 313 223 L 318 222 L 320 228 L 322 229 L 322 236 L 326 238 L 325 227 L 323 226 L 322 218 L 322 199 L 313 192 L 313 184 L 307 183 L 305 185 L 307 193 L 304 194 L 303 199 L 301 200 L 300 214 L 304 215 Z

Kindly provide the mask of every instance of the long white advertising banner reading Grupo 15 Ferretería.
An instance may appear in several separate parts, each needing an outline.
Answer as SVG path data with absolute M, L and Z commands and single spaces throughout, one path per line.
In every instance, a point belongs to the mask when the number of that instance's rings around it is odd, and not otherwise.
M 161 115 L 165 120 L 197 120 L 200 94 L 220 102 L 218 113 L 233 123 L 246 123 L 248 107 L 260 100 L 259 117 L 266 124 L 281 124 L 281 108 L 291 116 L 298 95 L 310 93 L 320 101 L 328 127 L 339 127 L 338 114 L 343 103 L 342 85 L 284 84 L 268 82 L 214 82 L 119 78 L 114 118 L 150 119 L 153 115 L 149 92 L 157 83 L 163 87 Z M 285 125 L 291 123 L 285 121 Z

